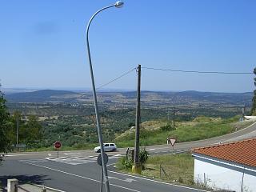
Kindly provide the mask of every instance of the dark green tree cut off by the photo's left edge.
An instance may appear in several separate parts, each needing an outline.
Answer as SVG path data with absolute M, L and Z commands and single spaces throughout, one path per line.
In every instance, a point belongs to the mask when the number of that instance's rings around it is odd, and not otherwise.
M 6 99 L 0 91 L 0 153 L 10 150 L 10 114 L 7 112 Z

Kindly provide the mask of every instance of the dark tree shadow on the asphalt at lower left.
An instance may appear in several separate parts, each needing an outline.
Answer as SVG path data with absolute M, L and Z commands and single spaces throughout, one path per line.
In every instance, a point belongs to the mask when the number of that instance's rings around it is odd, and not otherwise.
M 5 188 L 7 187 L 7 179 L 17 178 L 20 184 L 22 183 L 34 183 L 38 185 L 42 185 L 44 181 L 50 180 L 50 178 L 46 178 L 47 175 L 38 174 L 38 175 L 3 175 L 0 177 L 0 182 L 2 182 L 2 190 L 6 192 Z M 1 185 L 0 185 L 1 187 Z M 1 189 L 1 188 L 0 188 Z M 1 190 L 0 190 L 1 191 Z

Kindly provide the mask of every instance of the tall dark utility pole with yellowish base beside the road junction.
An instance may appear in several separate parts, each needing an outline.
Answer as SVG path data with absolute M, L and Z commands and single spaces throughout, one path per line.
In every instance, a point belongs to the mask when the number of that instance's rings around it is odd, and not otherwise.
M 139 126 L 140 126 L 140 118 L 141 118 L 141 65 L 138 65 L 137 68 L 138 73 L 138 87 L 137 87 L 137 106 L 136 106 L 136 121 L 135 121 L 135 149 L 134 149 L 134 166 L 132 168 L 132 172 L 140 174 L 142 172 L 142 168 L 139 165 Z

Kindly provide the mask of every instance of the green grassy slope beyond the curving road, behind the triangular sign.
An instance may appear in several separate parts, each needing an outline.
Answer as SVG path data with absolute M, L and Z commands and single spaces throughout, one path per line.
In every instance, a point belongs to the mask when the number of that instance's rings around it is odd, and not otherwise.
M 238 122 L 238 118 L 194 121 L 180 123 L 175 130 L 142 130 L 141 146 L 165 144 L 167 137 L 176 138 L 177 142 L 190 142 L 206 138 L 214 138 L 223 134 L 230 134 L 236 130 L 249 126 L 252 122 Z M 134 146 L 134 132 L 118 137 L 115 142 L 119 147 Z

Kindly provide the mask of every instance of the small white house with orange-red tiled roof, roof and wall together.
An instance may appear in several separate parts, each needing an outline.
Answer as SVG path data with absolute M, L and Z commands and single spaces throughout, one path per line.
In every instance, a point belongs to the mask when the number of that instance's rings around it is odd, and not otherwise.
M 214 190 L 256 192 L 256 138 L 192 150 L 194 182 Z

